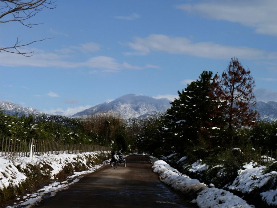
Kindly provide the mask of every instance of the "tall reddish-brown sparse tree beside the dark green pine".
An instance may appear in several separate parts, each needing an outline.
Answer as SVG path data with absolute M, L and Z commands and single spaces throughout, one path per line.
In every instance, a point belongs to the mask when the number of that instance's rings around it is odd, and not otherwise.
M 218 109 L 226 116 L 230 130 L 234 126 L 256 124 L 258 112 L 251 108 L 256 105 L 254 87 L 255 81 L 250 70 L 245 70 L 236 57 L 231 59 L 221 78 L 215 75 L 214 96 L 220 104 Z

